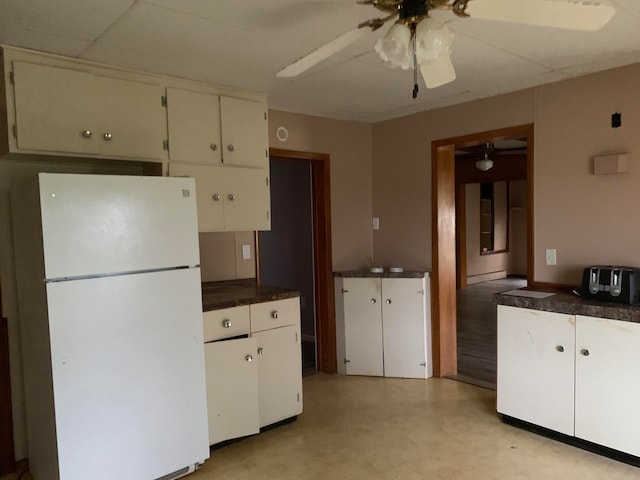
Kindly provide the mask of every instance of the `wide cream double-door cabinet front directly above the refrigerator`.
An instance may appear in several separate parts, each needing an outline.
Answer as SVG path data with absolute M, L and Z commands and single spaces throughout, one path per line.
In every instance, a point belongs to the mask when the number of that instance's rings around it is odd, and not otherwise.
M 162 87 L 13 62 L 18 151 L 162 161 Z

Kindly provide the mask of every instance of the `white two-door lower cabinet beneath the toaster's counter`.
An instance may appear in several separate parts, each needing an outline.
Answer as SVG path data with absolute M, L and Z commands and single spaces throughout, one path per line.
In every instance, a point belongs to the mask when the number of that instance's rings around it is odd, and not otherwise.
M 640 456 L 640 324 L 498 306 L 499 413 Z

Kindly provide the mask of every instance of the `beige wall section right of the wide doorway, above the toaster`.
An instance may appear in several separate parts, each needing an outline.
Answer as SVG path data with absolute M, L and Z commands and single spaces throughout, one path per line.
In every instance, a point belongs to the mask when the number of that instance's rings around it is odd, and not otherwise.
M 540 87 L 536 95 L 536 279 L 577 285 L 585 266 L 640 266 L 640 64 Z M 611 128 L 611 114 L 622 127 Z M 630 153 L 631 173 L 593 175 L 593 156 Z M 545 265 L 545 249 L 557 266 Z

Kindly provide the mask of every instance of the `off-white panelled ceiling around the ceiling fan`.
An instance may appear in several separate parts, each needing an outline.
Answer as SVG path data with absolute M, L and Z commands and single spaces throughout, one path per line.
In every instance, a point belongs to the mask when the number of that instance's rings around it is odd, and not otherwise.
M 455 33 L 458 77 L 422 86 L 416 100 L 412 73 L 373 52 L 387 27 L 296 78 L 276 78 L 381 16 L 352 0 L 0 0 L 0 43 L 258 91 L 278 110 L 377 122 L 640 61 L 640 1 L 599 3 L 617 13 L 597 32 L 435 12 Z

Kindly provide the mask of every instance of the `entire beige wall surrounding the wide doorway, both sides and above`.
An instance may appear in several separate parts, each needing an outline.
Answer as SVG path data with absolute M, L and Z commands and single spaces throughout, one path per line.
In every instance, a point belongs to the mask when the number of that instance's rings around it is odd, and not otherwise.
M 432 141 L 535 123 L 534 279 L 578 285 L 590 264 L 640 265 L 637 158 L 630 174 L 592 174 L 594 155 L 640 156 L 639 83 L 636 64 L 374 125 L 375 258 L 431 267 Z M 622 128 L 610 127 L 614 112 Z M 546 248 L 558 265 L 544 264 Z

